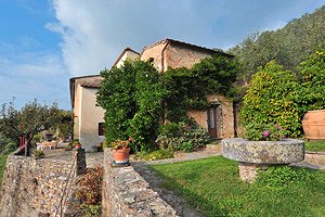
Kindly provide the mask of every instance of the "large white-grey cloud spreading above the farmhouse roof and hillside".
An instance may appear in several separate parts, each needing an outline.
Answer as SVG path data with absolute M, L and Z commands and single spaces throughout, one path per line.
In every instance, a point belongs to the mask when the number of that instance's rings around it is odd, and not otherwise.
M 229 48 L 247 35 L 284 26 L 322 1 L 303 0 L 52 0 L 63 59 L 74 75 L 110 67 L 126 47 L 174 38 L 208 48 Z

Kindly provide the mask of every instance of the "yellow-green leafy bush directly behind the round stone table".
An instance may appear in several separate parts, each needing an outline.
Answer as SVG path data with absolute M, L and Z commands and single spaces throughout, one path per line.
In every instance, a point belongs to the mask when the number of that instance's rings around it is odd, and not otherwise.
M 277 124 L 288 130 L 289 137 L 301 135 L 301 107 L 297 103 L 300 84 L 298 77 L 274 61 L 252 76 L 240 108 L 240 120 L 249 127 Z M 253 129 L 256 129 L 253 127 Z

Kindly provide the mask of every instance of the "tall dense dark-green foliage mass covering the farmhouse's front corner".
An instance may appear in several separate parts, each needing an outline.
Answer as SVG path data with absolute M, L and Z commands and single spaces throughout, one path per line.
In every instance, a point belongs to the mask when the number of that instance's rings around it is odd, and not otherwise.
M 126 61 L 120 68 L 101 72 L 104 77 L 98 103 L 105 110 L 105 137 L 108 142 L 126 140 L 148 149 L 153 144 L 167 93 L 158 72 L 146 62 Z

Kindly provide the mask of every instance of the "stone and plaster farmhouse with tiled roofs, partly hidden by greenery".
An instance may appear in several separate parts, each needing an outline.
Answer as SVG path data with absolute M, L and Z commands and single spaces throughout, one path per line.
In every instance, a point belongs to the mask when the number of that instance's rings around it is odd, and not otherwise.
M 191 67 L 212 54 L 233 58 L 221 51 L 186 43 L 173 39 L 164 39 L 143 48 L 138 53 L 125 49 L 114 66 L 119 67 L 127 59 L 140 59 L 151 62 L 159 73 L 168 68 Z M 70 101 L 74 114 L 74 138 L 79 139 L 86 151 L 104 141 L 104 110 L 96 106 L 96 90 L 103 78 L 100 75 L 70 78 Z M 220 94 L 206 95 L 210 102 L 208 111 L 187 111 L 187 115 L 209 131 L 211 138 L 233 138 L 235 133 L 233 102 Z

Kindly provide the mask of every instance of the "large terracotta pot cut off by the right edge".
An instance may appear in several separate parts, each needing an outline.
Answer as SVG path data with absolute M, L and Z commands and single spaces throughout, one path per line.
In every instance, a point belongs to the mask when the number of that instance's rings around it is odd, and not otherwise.
M 325 110 L 309 111 L 302 119 L 307 139 L 325 140 Z

